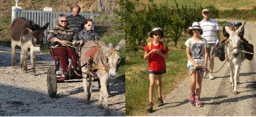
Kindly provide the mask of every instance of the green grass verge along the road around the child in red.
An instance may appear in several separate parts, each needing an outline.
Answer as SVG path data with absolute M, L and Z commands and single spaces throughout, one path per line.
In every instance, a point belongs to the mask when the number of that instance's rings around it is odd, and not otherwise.
M 163 97 L 173 90 L 179 82 L 187 77 L 188 70 L 185 41 L 189 37 L 182 37 L 179 40 L 179 47 L 175 49 L 173 42 L 168 44 L 172 49 L 169 51 L 170 59 L 166 60 L 167 72 L 163 76 Z M 143 59 L 144 51 L 137 53 L 129 52 L 126 57 L 126 115 L 145 116 L 146 104 L 149 102 L 149 74 L 148 62 Z M 155 86 L 154 103 L 157 104 L 157 85 Z

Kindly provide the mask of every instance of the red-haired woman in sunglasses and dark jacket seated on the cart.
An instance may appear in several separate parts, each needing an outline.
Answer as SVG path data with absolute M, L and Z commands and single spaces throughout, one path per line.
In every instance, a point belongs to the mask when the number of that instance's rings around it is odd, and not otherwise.
M 78 38 L 79 40 L 83 40 L 84 42 L 90 40 L 99 40 L 99 36 L 95 30 L 93 30 L 94 22 L 92 19 L 88 18 L 84 22 L 84 29 L 79 32 Z

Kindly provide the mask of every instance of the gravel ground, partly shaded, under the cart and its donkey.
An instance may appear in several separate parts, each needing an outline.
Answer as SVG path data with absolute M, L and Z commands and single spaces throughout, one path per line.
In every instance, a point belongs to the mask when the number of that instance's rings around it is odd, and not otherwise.
M 32 76 L 30 60 L 28 73 L 21 71 L 19 52 L 12 69 L 10 48 L 0 47 L 0 116 L 104 116 L 104 110 L 97 108 L 96 82 L 89 105 L 83 102 L 82 80 L 59 83 L 57 97 L 50 98 L 46 85 L 47 69 L 54 65 L 50 55 L 36 55 L 36 76 Z M 111 80 L 109 88 L 111 116 L 125 116 L 125 78 Z

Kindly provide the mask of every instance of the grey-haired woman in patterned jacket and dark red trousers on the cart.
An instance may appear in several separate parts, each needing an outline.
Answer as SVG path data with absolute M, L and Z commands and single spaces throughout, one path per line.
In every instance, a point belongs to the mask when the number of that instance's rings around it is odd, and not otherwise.
M 75 38 L 74 30 L 70 29 L 67 24 L 67 17 L 64 14 L 58 16 L 58 24 L 49 30 L 47 39 L 52 44 L 52 51 L 55 56 L 60 57 L 63 74 L 65 74 L 67 64 L 67 56 L 71 59 L 72 67 L 77 67 L 77 55 L 74 48 L 66 46 L 66 44 L 74 46 L 82 44 L 82 41 L 78 41 Z

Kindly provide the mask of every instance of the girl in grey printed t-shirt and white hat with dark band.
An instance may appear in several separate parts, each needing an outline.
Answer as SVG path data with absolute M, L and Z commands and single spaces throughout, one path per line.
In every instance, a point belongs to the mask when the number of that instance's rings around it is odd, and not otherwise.
M 202 107 L 203 104 L 200 101 L 200 94 L 203 73 L 207 69 L 208 43 L 205 38 L 201 37 L 203 31 L 198 22 L 192 24 L 192 27 L 189 28 L 189 33 L 192 38 L 189 38 L 185 42 L 188 57 L 187 67 L 190 70 L 189 75 L 191 77 L 189 103 L 193 106 Z

